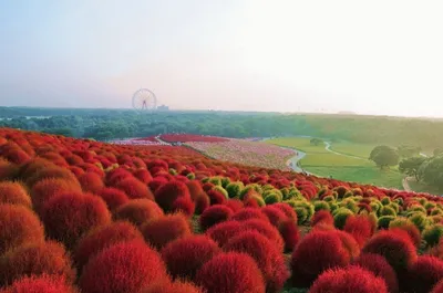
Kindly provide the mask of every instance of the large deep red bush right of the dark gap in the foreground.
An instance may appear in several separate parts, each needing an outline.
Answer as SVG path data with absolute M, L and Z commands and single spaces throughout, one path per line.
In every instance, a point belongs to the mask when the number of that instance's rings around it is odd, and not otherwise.
M 292 284 L 308 287 L 323 271 L 344 266 L 349 261 L 349 252 L 343 248 L 338 233 L 312 231 L 300 241 L 292 253 L 290 261 Z

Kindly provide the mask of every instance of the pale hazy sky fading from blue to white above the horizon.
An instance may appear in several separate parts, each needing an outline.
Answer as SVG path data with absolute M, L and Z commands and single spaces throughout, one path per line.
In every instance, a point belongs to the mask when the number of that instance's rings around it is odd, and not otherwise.
M 443 116 L 443 1 L 0 1 L 0 106 Z

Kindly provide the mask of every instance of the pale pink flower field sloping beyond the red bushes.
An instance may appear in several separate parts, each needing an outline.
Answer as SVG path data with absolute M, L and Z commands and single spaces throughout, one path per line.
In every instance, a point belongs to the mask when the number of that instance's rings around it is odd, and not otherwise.
M 215 159 L 281 170 L 289 170 L 286 161 L 297 155 L 292 149 L 244 139 L 190 142 L 186 145 Z

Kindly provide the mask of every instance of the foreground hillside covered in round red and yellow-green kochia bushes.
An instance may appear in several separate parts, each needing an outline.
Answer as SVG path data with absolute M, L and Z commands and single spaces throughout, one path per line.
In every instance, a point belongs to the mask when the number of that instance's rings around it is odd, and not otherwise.
M 427 193 L 0 128 L 1 293 L 440 293 L 442 236 Z

